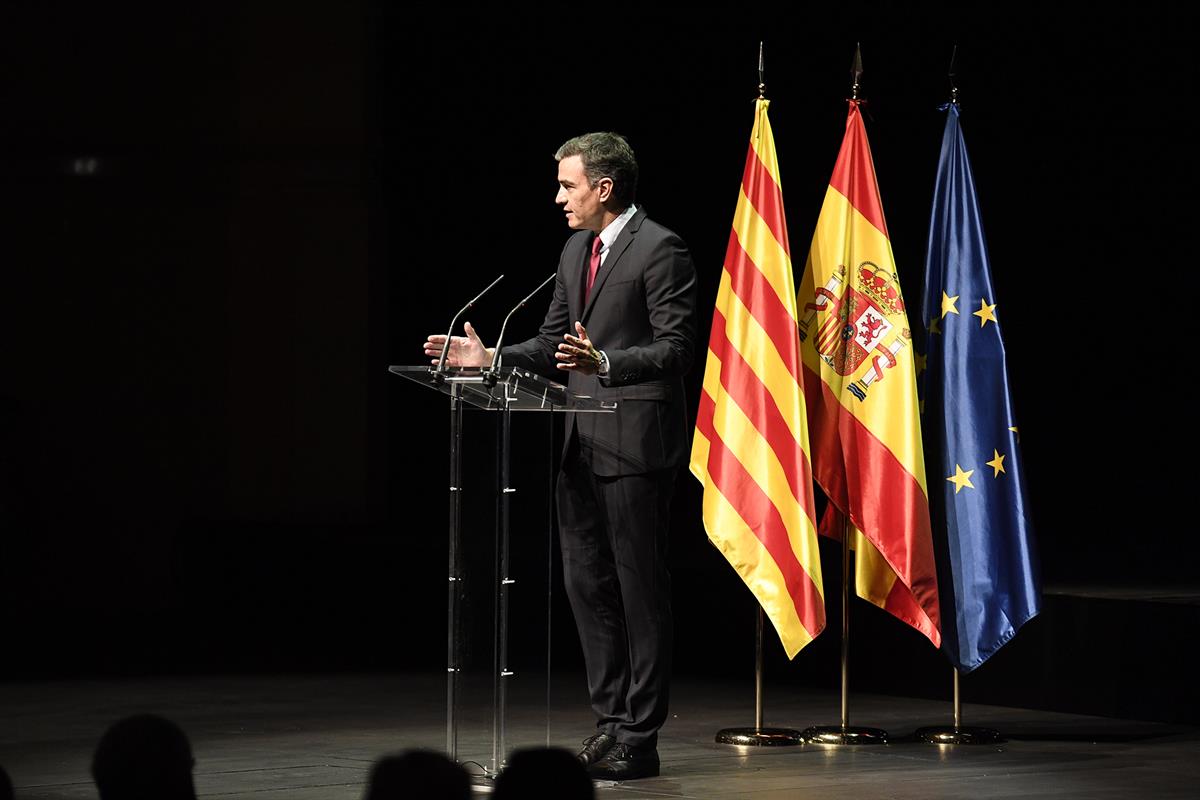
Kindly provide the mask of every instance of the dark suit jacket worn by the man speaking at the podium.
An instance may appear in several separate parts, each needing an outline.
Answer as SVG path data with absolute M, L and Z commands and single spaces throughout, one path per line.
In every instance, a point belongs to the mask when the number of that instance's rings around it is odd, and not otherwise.
M 638 209 L 596 272 L 583 303 L 590 231 L 563 248 L 554 299 L 534 338 L 503 348 L 505 366 L 526 367 L 563 381 L 580 395 L 616 401 L 614 414 L 575 414 L 570 434 L 590 449 L 596 475 L 667 469 L 688 458 L 683 375 L 696 345 L 696 271 L 683 240 Z M 557 369 L 564 333 L 583 323 L 595 348 L 608 356 L 608 375 Z

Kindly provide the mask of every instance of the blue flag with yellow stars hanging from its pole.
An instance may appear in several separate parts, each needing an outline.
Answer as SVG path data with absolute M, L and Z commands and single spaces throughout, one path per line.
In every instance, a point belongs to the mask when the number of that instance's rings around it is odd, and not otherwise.
M 925 255 L 925 441 L 942 584 L 942 649 L 966 673 L 1042 606 L 1000 311 L 967 148 L 952 103 Z

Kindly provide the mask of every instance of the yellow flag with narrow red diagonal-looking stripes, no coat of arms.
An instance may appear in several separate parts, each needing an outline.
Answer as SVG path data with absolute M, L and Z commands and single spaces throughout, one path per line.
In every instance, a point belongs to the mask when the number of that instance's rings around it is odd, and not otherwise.
M 713 312 L 691 473 L 708 537 L 787 656 L 824 628 L 796 290 L 768 101 L 754 131 Z

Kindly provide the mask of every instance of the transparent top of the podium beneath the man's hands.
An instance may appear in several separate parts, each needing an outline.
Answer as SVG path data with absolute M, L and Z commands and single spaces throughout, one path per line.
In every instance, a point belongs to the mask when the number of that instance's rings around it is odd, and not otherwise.
M 617 410 L 613 402 L 576 395 L 563 384 L 521 367 L 502 367 L 494 375 L 479 367 L 446 367 L 440 375 L 432 367 L 388 367 L 388 371 L 490 411 L 508 408 L 510 411 L 610 414 Z

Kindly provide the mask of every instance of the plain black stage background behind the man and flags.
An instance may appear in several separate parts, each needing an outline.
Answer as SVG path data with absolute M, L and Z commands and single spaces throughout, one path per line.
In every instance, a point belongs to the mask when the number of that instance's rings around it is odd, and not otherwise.
M 473 319 L 494 336 L 553 270 L 568 235 L 557 145 L 598 128 L 631 139 L 640 200 L 692 249 L 707 332 L 758 41 L 797 278 L 860 41 L 916 306 L 956 42 L 1045 582 L 1067 591 L 972 680 L 998 702 L 1169 716 L 1169 692 L 1096 698 L 1148 681 L 1162 642 L 1196 632 L 1195 608 L 1070 597 L 1195 584 L 1182 320 L 1196 30 L 1146 4 L 1049 5 L 638 7 L 608 24 L 562 6 L 7 7 L 0 674 L 440 669 L 445 405 L 386 367 L 419 362 L 424 336 L 503 271 Z M 482 577 L 492 439 L 472 425 Z M 542 421 L 518 433 L 515 572 L 544 591 L 553 444 Z M 754 607 L 707 545 L 698 499 L 680 475 L 677 669 L 749 679 Z M 835 684 L 826 555 L 830 630 L 792 664 L 772 643 L 779 680 Z M 490 613 L 473 606 L 476 628 Z M 853 613 L 857 687 L 947 690 L 919 636 Z M 518 654 L 536 654 L 539 614 L 522 618 Z M 562 599 L 556 658 L 578 666 Z

